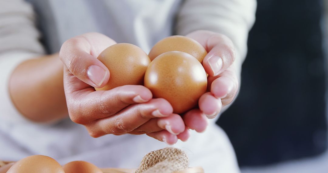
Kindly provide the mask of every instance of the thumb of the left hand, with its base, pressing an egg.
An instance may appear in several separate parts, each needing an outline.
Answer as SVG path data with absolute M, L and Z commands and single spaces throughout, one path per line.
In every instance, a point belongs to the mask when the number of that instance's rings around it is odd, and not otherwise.
M 115 41 L 103 34 L 86 33 L 67 40 L 59 51 L 59 57 L 74 76 L 99 88 L 108 82 L 110 73 L 97 56 L 113 44 Z

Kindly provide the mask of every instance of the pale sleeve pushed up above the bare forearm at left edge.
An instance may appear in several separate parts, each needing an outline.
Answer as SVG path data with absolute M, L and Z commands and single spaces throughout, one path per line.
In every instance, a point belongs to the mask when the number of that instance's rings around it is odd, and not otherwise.
M 26 121 L 11 102 L 9 80 L 12 71 L 27 59 L 44 54 L 34 26 L 31 5 L 23 0 L 0 0 L 0 119 Z M 23 86 L 22 86 L 23 87 Z

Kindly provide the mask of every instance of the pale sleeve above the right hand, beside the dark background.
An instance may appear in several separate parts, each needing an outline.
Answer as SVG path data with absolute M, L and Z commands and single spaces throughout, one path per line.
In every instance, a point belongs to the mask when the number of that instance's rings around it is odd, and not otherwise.
M 236 61 L 241 65 L 256 5 L 256 0 L 186 0 L 177 17 L 177 33 L 186 35 L 202 29 L 225 34 L 234 42 Z

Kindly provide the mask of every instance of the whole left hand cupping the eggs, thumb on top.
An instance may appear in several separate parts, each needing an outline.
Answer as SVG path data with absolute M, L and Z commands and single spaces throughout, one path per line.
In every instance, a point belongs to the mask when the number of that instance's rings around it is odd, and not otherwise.
M 64 90 L 70 118 L 84 125 L 92 137 L 106 134 L 147 134 L 167 144 L 186 141 L 190 132 L 173 114 L 165 99 L 152 99 L 144 86 L 126 85 L 95 91 L 110 78 L 110 70 L 97 56 L 115 42 L 99 33 L 67 40 L 59 57 L 64 63 Z

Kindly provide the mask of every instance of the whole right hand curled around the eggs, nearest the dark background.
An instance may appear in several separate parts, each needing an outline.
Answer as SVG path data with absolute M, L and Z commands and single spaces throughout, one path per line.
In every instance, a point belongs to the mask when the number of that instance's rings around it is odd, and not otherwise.
M 203 67 L 209 74 L 208 91 L 199 101 L 199 108 L 192 109 L 183 115 L 185 124 L 202 132 L 208 120 L 215 118 L 223 106 L 231 103 L 238 91 L 238 78 L 234 63 L 236 55 L 234 44 L 225 35 L 198 30 L 187 35 L 198 41 L 208 52 L 203 60 Z

